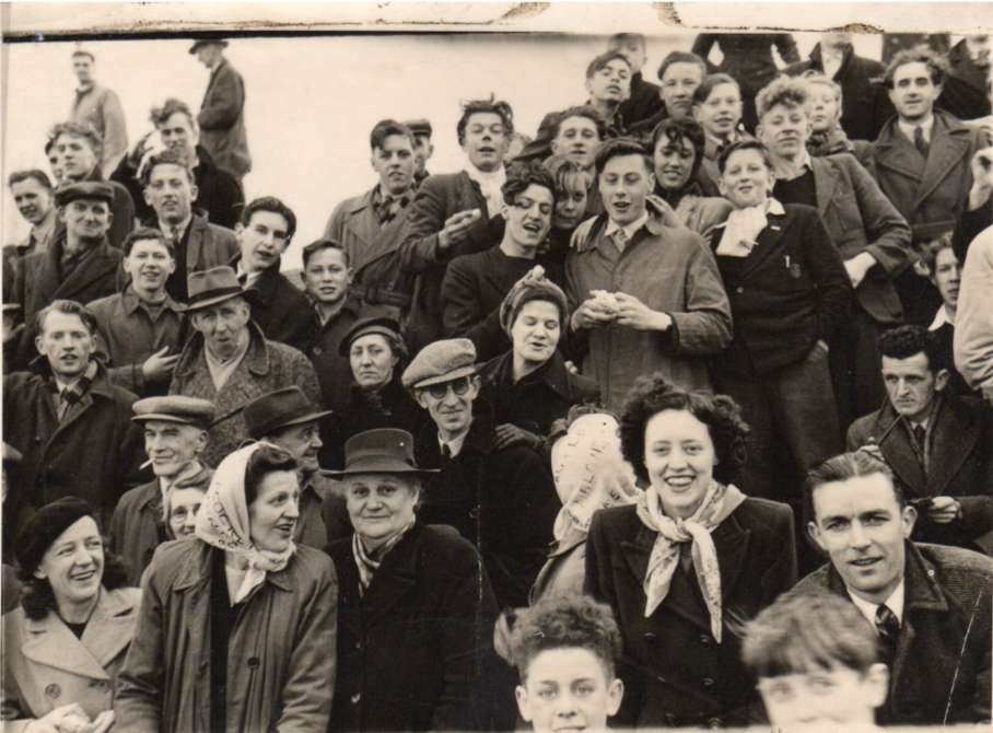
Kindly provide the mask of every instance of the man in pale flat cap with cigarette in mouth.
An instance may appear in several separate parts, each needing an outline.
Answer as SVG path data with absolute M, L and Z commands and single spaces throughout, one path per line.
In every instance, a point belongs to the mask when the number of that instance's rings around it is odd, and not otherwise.
M 213 472 L 200 463 L 200 454 L 215 410 L 206 399 L 182 396 L 139 399 L 131 409 L 131 421 L 144 431 L 144 450 L 155 478 L 120 498 L 109 535 L 110 550 L 124 561 L 131 585 L 138 585 L 165 539 L 162 508 L 168 491 L 210 482 Z

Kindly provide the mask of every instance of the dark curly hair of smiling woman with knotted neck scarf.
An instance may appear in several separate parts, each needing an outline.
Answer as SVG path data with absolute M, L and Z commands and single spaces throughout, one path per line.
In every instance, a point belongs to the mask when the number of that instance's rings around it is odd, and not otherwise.
M 634 475 L 649 481 L 645 470 L 645 428 L 663 410 L 686 410 L 706 426 L 714 443 L 714 478 L 727 484 L 745 465 L 745 444 L 749 428 L 741 420 L 741 408 L 726 395 L 704 397 L 666 381 L 659 373 L 642 376 L 628 393 L 620 420 L 621 454 Z

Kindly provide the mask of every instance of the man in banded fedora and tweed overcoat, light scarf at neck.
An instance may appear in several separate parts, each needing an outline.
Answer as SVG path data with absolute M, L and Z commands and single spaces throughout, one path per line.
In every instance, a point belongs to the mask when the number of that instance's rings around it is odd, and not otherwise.
M 248 438 L 242 408 L 247 402 L 289 386 L 300 386 L 317 403 L 320 389 L 307 358 L 269 341 L 252 321 L 252 309 L 230 267 L 194 272 L 188 278 L 186 312 L 197 331 L 186 342 L 170 394 L 209 399 L 218 414 L 202 459 L 217 466 Z

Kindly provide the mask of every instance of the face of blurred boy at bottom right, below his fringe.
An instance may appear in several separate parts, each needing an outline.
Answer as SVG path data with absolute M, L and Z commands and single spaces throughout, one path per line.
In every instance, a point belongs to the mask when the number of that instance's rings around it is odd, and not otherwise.
M 889 673 L 885 664 L 874 664 L 864 674 L 838 666 L 830 671 L 762 677 L 758 688 L 769 721 L 775 728 L 873 725 L 876 708 L 886 702 Z

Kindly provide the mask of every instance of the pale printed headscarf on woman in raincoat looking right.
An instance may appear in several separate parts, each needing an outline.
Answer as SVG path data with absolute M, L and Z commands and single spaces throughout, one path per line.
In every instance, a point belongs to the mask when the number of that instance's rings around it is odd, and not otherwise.
M 248 561 L 245 579 L 232 604 L 246 598 L 256 585 L 266 580 L 267 572 L 284 569 L 296 551 L 292 540 L 282 552 L 260 550 L 252 544 L 248 502 L 245 500 L 245 469 L 248 458 L 262 445 L 274 447 L 271 443 L 252 443 L 221 462 L 197 513 L 196 534 L 199 539 Z

